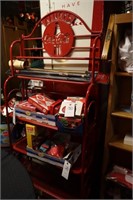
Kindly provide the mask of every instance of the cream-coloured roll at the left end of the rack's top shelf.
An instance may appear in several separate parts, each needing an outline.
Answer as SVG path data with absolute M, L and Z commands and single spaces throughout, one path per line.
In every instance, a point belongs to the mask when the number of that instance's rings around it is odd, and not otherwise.
M 11 67 L 11 60 L 8 61 L 9 67 Z M 13 60 L 13 66 L 15 69 L 25 69 L 29 65 L 28 61 L 24 60 Z

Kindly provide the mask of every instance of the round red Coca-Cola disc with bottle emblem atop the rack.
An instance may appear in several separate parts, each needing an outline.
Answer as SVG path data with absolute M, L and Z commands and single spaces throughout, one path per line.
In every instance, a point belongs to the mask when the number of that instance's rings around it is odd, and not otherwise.
M 60 57 L 67 55 L 72 49 L 73 42 L 73 30 L 64 21 L 52 22 L 44 31 L 44 48 L 50 56 Z

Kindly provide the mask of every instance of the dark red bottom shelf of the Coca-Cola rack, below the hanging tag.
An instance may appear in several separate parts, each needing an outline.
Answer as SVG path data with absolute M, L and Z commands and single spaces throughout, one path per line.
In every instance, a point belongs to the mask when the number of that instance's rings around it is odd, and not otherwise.
M 51 165 L 28 164 L 28 172 L 34 187 L 55 199 L 77 199 L 80 196 L 80 176 L 70 174 L 66 180 L 61 170 Z M 45 173 L 46 172 L 46 173 Z M 74 187 L 73 187 L 74 183 Z

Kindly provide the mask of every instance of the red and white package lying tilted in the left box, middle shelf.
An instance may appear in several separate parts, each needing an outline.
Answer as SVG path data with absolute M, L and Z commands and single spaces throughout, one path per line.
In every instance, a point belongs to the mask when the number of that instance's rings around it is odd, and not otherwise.
M 50 99 L 48 96 L 42 93 L 38 93 L 28 98 L 28 102 L 35 106 L 38 110 L 44 114 L 48 114 L 50 111 L 51 105 L 55 102 L 53 99 Z

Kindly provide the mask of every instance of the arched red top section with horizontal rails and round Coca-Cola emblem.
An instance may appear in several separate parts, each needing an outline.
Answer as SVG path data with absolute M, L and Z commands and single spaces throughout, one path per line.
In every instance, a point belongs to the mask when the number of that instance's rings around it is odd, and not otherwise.
M 79 20 L 81 24 L 84 25 L 86 32 L 85 34 L 75 33 L 74 22 Z M 44 33 L 42 37 L 34 37 L 33 34 L 35 30 L 42 24 L 44 28 Z M 67 11 L 67 10 L 56 10 L 48 13 L 42 19 L 40 19 L 31 34 L 25 36 L 22 35 L 20 40 L 16 40 L 10 46 L 10 59 L 11 59 L 11 72 L 14 76 L 16 70 L 13 66 L 13 59 L 65 59 L 65 60 L 88 60 L 89 66 L 91 66 L 92 74 L 94 74 L 95 68 L 98 69 L 100 63 L 100 51 L 101 51 L 101 31 L 91 30 L 84 20 L 77 14 Z M 78 40 L 85 40 L 88 45 L 77 46 Z M 26 41 L 42 41 L 42 47 L 27 48 Z M 13 57 L 13 47 L 19 43 L 20 52 L 18 55 Z M 31 50 L 42 50 L 43 53 L 46 52 L 49 56 L 33 56 L 29 51 Z M 75 51 L 86 51 L 88 56 L 72 56 Z M 28 53 L 29 52 L 29 53 Z M 97 67 L 98 66 L 98 67 Z M 89 70 L 89 68 L 88 68 Z M 92 78 L 94 82 L 94 77 Z

